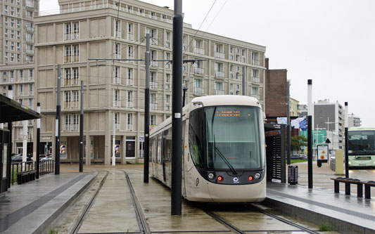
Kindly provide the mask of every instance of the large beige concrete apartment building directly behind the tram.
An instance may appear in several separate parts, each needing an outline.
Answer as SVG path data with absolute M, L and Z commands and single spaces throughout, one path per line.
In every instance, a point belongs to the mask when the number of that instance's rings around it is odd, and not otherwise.
M 84 82 L 84 144 L 87 164 L 110 164 L 113 125 L 116 161 L 143 157 L 145 35 L 151 34 L 151 59 L 172 58 L 173 11 L 142 1 L 60 0 L 60 12 L 34 19 L 35 89 L 41 103 L 42 142 L 54 146 L 57 65 L 61 64 L 61 162 L 78 162 L 80 82 Z M 117 17 L 118 15 L 118 17 Z M 193 37 L 196 35 L 195 37 Z M 184 65 L 191 75 L 187 102 L 202 95 L 247 95 L 265 107 L 265 46 L 198 32 L 185 24 Z M 242 92 L 246 67 L 248 93 Z M 172 65 L 151 62 L 151 127 L 170 117 Z M 113 124 L 115 122 L 115 124 Z

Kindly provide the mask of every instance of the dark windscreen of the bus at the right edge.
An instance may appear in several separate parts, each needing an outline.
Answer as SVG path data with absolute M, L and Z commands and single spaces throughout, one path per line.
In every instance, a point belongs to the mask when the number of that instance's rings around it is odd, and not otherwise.
M 348 131 L 350 155 L 375 155 L 375 131 Z

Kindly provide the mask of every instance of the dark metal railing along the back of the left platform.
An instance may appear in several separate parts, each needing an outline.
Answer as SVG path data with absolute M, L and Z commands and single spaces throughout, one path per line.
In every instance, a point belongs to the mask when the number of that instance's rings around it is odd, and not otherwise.
M 11 163 L 11 185 L 17 181 L 17 174 L 23 171 L 34 171 L 36 170 L 36 162 L 12 162 Z M 40 160 L 39 161 L 39 176 L 53 173 L 55 171 L 54 160 Z

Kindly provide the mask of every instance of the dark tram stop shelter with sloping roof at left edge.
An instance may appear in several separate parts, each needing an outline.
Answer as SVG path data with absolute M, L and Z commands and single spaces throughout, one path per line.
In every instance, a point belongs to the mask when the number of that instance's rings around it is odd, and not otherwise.
M 8 123 L 7 129 L 0 128 L 0 193 L 11 187 L 12 122 L 40 117 L 38 112 L 0 94 L 0 124 Z

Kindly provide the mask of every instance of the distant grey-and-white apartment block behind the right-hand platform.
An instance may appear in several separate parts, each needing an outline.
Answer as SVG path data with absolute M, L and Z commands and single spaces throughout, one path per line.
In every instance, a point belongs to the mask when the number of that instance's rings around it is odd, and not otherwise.
M 314 103 L 314 129 L 326 129 L 327 136 L 332 132 L 330 141 L 333 150 L 343 149 L 344 112 L 343 106 L 337 101 L 330 103 L 329 99 L 325 99 Z

